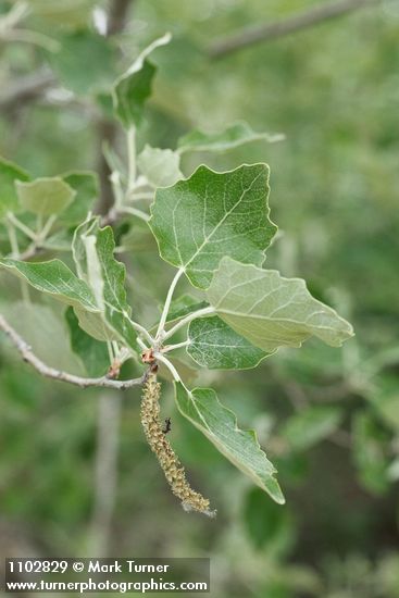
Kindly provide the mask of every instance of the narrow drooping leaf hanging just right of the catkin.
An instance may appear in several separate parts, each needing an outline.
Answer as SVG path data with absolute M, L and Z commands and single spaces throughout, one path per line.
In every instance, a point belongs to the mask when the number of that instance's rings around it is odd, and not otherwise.
M 212 388 L 195 388 L 188 393 L 180 383 L 175 383 L 178 410 L 226 459 L 248 475 L 266 491 L 273 500 L 285 502 L 274 477 L 276 470 L 259 446 L 253 431 L 241 431 L 233 411 L 223 407 Z

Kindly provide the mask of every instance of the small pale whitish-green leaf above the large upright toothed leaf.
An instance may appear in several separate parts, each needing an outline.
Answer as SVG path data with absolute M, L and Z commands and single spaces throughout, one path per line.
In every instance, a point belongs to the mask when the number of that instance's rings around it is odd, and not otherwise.
M 170 149 L 146 145 L 137 158 L 137 165 L 152 187 L 170 187 L 183 178 L 180 157 Z

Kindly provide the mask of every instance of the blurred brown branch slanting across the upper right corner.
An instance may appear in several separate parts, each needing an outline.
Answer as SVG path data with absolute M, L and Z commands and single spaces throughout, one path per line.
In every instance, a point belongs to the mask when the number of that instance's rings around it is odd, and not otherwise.
M 270 41 L 271 39 L 307 29 L 308 27 L 336 18 L 358 9 L 365 9 L 378 4 L 382 0 L 341 0 L 339 2 L 325 3 L 306 12 L 300 12 L 284 21 L 276 21 L 258 27 L 247 27 L 220 41 L 215 41 L 209 49 L 209 55 L 212 59 L 219 59 L 241 50 L 242 48 L 253 46 L 254 43 Z

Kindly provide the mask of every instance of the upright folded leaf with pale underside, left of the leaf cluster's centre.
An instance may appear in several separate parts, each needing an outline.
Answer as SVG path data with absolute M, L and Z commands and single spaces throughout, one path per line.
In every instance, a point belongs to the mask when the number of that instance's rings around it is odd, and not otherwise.
M 115 260 L 114 249 L 112 228 L 100 228 L 98 217 L 76 228 L 72 250 L 77 273 L 93 292 L 101 322 L 75 311 L 80 326 L 98 340 L 119 340 L 137 350 L 136 333 L 129 321 L 132 310 L 126 299 L 126 269 Z

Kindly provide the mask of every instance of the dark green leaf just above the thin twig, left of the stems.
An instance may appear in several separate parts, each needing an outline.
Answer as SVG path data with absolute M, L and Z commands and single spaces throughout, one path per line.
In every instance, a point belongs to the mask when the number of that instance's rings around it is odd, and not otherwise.
M 107 345 L 96 340 L 80 328 L 73 308 L 67 308 L 65 311 L 65 320 L 70 329 L 72 350 L 80 359 L 86 373 L 89 376 L 105 375 L 110 365 Z

